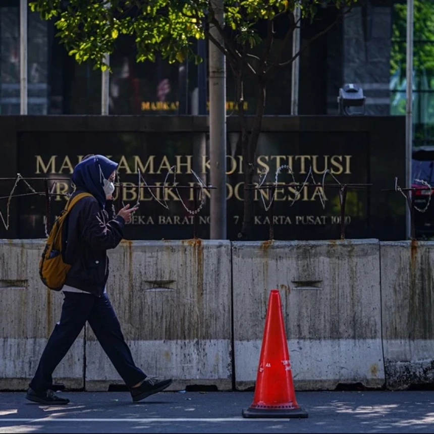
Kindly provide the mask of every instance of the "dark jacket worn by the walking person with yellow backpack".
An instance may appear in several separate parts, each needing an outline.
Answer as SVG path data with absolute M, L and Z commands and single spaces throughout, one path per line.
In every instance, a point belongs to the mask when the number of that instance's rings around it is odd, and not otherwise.
M 113 201 L 107 200 L 105 209 L 101 209 L 94 197 L 84 197 L 65 223 L 64 261 L 71 265 L 65 285 L 100 297 L 108 279 L 106 251 L 121 242 L 125 221 L 115 216 Z

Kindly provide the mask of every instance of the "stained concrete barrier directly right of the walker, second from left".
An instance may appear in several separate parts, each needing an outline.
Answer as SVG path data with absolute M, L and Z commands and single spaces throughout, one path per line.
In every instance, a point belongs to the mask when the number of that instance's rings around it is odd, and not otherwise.
M 107 292 L 136 364 L 186 385 L 232 388 L 229 241 L 123 242 L 110 252 Z M 91 330 L 86 390 L 122 383 Z

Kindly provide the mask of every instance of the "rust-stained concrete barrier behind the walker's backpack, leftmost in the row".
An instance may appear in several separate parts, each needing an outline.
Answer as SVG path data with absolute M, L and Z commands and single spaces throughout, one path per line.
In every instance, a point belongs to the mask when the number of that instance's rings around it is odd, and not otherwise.
M 22 390 L 36 371 L 63 294 L 39 279 L 42 240 L 0 240 L 0 390 Z M 55 383 L 83 388 L 84 333 L 53 374 Z

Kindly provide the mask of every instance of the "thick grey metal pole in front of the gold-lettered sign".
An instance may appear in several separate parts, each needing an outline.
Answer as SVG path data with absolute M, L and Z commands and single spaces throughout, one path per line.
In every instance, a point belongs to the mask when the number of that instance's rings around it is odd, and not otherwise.
M 223 0 L 210 0 L 215 17 L 224 26 Z M 213 25 L 211 35 L 222 45 Z M 210 199 L 210 239 L 226 239 L 226 62 L 223 53 L 209 41 L 209 158 L 210 183 L 216 190 Z

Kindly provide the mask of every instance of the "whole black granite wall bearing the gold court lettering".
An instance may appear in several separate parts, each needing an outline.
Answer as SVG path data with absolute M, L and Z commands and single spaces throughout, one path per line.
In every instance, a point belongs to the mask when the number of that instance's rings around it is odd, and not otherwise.
M 249 117 L 248 125 L 252 124 Z M 6 214 L 7 197 L 17 173 L 36 177 L 31 184 L 43 191 L 43 179 L 61 177 L 55 186 L 57 196 L 51 202 L 50 219 L 58 215 L 65 203 L 59 193 L 69 190 L 69 177 L 80 155 L 102 153 L 120 163 L 120 192 L 125 202 L 137 200 L 137 168 L 142 167 L 149 184 L 162 184 L 170 166 L 179 168 L 177 182 L 189 185 L 195 179 L 189 167 L 206 180 L 209 154 L 206 116 L 0 116 L 0 211 Z M 394 191 L 395 177 L 401 185 L 405 179 L 404 117 L 341 116 L 276 116 L 265 117 L 257 150 L 258 174 L 268 168 L 268 182 L 274 182 L 276 169 L 290 165 L 295 180 L 303 182 L 312 168 L 315 182 L 322 182 L 325 169 L 332 170 L 340 183 L 368 183 L 367 189 L 351 190 L 346 215 L 348 238 L 376 237 L 382 240 L 404 239 L 405 200 Z M 238 122 L 228 118 L 227 195 L 228 237 L 237 239 L 242 222 L 244 195 L 243 166 L 240 160 Z M 199 143 L 200 144 L 200 143 Z M 141 166 L 140 166 L 141 165 Z M 255 177 L 258 181 L 258 175 Z M 308 181 L 312 181 L 309 179 Z M 173 183 L 173 177 L 169 177 Z M 292 177 L 283 170 L 279 182 L 290 183 Z M 327 183 L 334 183 L 329 176 Z M 129 239 L 185 239 L 192 237 L 191 216 L 169 189 L 169 209 L 152 200 L 142 190 L 137 221 L 128 225 Z M 190 209 L 192 192 L 182 192 Z M 20 184 L 16 193 L 28 193 Z M 154 192 L 156 194 L 156 191 Z M 212 194 L 212 193 L 211 193 Z M 316 187 L 303 190 L 292 206 L 294 190 L 279 186 L 274 213 L 277 217 L 275 239 L 336 239 L 340 237 L 337 219 L 340 215 L 338 190 L 326 187 L 327 200 L 321 206 Z M 161 196 L 160 196 L 161 198 Z M 118 204 L 119 205 L 119 204 Z M 255 201 L 255 239 L 268 238 L 267 213 L 260 196 Z M 0 226 L 2 238 L 40 238 L 44 236 L 46 215 L 44 196 L 14 198 L 10 208 L 10 228 Z M 204 221 L 198 236 L 209 237 L 209 201 L 200 213 Z M 151 218 L 151 220 L 149 220 Z

